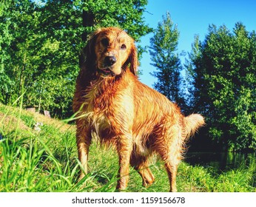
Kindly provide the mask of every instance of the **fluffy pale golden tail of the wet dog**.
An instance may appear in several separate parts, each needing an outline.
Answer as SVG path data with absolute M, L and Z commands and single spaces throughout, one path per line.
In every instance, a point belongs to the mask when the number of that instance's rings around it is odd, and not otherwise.
M 190 138 L 195 135 L 195 132 L 198 131 L 199 127 L 205 124 L 204 118 L 202 115 L 193 114 L 184 118 L 186 138 Z

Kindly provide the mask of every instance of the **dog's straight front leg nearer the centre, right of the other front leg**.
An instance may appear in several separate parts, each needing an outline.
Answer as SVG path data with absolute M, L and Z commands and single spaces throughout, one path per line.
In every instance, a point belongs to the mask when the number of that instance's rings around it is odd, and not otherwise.
M 127 188 L 129 181 L 129 160 L 132 154 L 132 135 L 123 135 L 118 140 L 119 171 L 116 189 Z

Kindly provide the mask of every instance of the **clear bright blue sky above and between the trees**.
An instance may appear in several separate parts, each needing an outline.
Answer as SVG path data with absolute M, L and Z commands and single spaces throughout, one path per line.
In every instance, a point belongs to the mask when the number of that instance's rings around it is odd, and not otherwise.
M 158 22 L 162 21 L 162 16 L 169 11 L 180 32 L 178 52 L 190 52 L 196 34 L 203 41 L 209 24 L 215 24 L 217 27 L 225 24 L 232 30 L 235 23 L 241 21 L 249 32 L 256 30 L 256 0 L 148 0 L 146 11 L 146 24 L 154 29 Z M 149 46 L 151 37 L 152 34 L 144 36 L 140 44 Z M 183 58 L 181 61 L 183 63 Z M 150 63 L 152 61 L 149 52 L 144 52 L 140 66 L 143 75 L 140 80 L 148 86 L 152 86 L 156 81 L 149 75 L 149 72 L 155 70 Z

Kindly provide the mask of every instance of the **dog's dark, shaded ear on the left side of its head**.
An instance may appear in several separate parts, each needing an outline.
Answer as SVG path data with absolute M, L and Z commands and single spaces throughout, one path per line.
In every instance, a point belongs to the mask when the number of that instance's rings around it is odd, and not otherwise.
M 96 30 L 95 33 L 92 33 L 92 35 L 90 35 L 90 38 L 87 41 L 86 46 L 81 50 L 81 53 L 79 55 L 80 67 L 95 63 L 95 42 L 100 32 L 101 30 Z

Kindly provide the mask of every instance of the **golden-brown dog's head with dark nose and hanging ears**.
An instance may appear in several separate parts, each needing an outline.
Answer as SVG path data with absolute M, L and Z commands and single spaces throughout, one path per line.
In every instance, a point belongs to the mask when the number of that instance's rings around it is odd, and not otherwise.
M 117 27 L 95 31 L 82 53 L 82 64 L 95 64 L 101 77 L 120 75 L 127 67 L 136 75 L 138 58 L 134 40 Z

